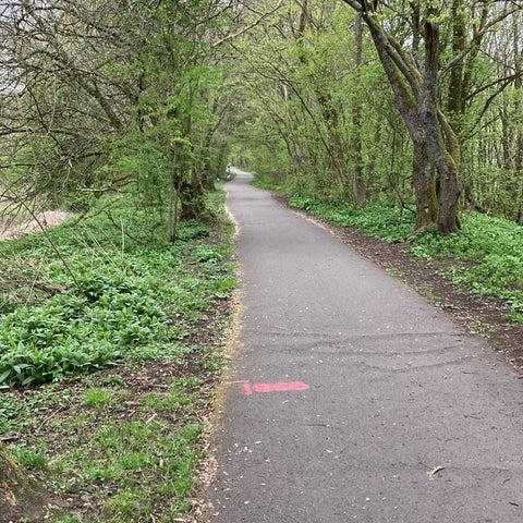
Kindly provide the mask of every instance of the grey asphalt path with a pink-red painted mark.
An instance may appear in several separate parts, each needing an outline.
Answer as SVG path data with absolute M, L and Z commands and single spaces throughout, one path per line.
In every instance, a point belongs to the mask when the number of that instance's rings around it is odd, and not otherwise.
M 523 521 L 523 380 L 240 172 L 211 523 Z M 206 521 L 207 521 L 206 520 Z

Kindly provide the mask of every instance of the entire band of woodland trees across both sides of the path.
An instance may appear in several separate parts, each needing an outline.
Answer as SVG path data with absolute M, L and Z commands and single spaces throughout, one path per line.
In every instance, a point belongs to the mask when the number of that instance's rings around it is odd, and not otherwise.
M 2 2 L 3 199 L 205 215 L 234 157 L 416 229 L 521 221 L 519 1 Z M 175 211 L 175 212 L 174 212 Z M 153 220 L 153 221 L 155 221 Z

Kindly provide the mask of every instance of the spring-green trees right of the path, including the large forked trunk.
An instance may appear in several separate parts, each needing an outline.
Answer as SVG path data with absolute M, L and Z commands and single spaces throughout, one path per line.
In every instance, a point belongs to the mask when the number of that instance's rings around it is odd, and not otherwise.
M 386 198 L 442 234 L 463 207 L 521 220 L 521 9 L 281 8 L 235 44 L 253 167 L 358 206 Z

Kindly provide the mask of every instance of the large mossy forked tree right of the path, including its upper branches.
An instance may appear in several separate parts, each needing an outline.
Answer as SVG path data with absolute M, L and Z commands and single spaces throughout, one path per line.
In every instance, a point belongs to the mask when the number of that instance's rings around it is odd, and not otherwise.
M 477 53 L 486 32 L 522 9 L 520 2 L 499 2 L 503 5 L 497 7 L 490 7 L 489 2 L 472 2 L 469 8 L 461 0 L 454 0 L 450 7 L 419 0 L 408 5 L 404 2 L 366 0 L 344 2 L 362 15 L 369 29 L 413 142 L 416 228 L 436 222 L 441 234 L 454 232 L 459 229 L 461 144 L 459 129 L 451 125 L 443 113 L 441 76 L 451 71 L 447 109 L 455 114 L 462 110 L 469 88 L 466 80 L 470 80 L 471 71 L 464 66 L 464 58 Z M 466 32 L 464 21 L 467 16 L 477 20 L 477 11 L 479 22 L 473 25 L 472 32 Z M 440 32 L 448 26 L 449 15 L 454 20 L 451 36 L 454 56 L 440 69 L 443 47 Z M 403 42 L 384 25 L 390 23 L 391 16 L 401 16 L 409 24 L 410 35 Z M 438 174 L 437 185 L 431 177 L 431 166 Z

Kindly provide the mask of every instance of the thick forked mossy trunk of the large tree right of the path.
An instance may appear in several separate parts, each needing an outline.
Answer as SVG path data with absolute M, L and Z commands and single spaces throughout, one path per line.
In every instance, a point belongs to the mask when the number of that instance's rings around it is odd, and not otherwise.
M 437 207 L 436 224 L 441 234 L 459 229 L 458 203 L 460 190 L 458 169 L 460 144 L 445 120 L 438 102 L 439 26 L 429 23 L 428 8 L 425 24 L 425 74 L 421 71 L 419 5 L 412 2 L 412 25 L 415 28 L 412 53 L 406 52 L 380 25 L 374 4 L 357 0 L 344 0 L 365 21 L 384 70 L 396 96 L 398 109 L 414 144 L 413 178 L 416 187 L 416 229 L 433 224 Z M 435 10 L 436 12 L 436 10 Z M 441 131 L 441 129 L 443 131 Z M 447 139 L 448 147 L 442 137 Z M 438 171 L 439 193 L 433 190 L 426 156 Z

